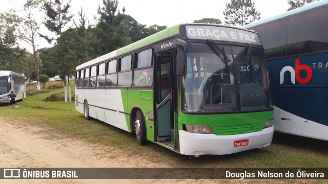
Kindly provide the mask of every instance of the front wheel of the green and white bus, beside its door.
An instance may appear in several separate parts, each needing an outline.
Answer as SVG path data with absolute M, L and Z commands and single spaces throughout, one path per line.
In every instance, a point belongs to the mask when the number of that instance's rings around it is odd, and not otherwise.
M 142 116 L 140 110 L 135 114 L 135 135 L 139 145 L 145 145 L 147 143 L 147 134 L 146 134 L 146 123 L 144 116 Z

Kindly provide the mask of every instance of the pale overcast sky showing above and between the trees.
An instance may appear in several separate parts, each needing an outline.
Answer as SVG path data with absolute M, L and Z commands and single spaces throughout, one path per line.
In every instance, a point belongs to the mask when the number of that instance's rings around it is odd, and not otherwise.
M 55 0 L 51 0 L 55 1 Z M 77 12 L 83 7 L 83 12 L 94 24 L 94 15 L 97 15 L 98 5 L 103 7 L 103 0 L 71 0 L 70 14 L 78 22 Z M 65 0 L 64 2 L 68 2 Z M 230 0 L 119 0 L 118 9 L 122 12 L 125 7 L 126 14 L 131 15 L 139 24 L 159 25 L 171 27 L 180 23 L 189 23 L 202 18 L 218 18 L 224 22 L 223 10 Z M 261 13 L 261 19 L 286 12 L 288 0 L 253 0 L 255 8 Z M 0 0 L 0 12 L 10 9 L 22 9 L 26 0 Z M 45 15 L 40 13 L 40 20 Z M 71 23 L 73 24 L 73 22 Z M 44 28 L 45 29 L 45 28 Z M 45 30 L 47 31 L 47 30 Z M 39 40 L 39 48 L 51 47 L 45 40 Z

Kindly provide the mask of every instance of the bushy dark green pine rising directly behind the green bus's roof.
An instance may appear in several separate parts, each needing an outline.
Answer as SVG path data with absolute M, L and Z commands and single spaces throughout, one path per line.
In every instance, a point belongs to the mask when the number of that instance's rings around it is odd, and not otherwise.
M 131 38 L 123 24 L 125 17 L 117 11 L 117 0 L 103 0 L 104 7 L 98 6 L 97 26 L 93 29 L 92 47 L 95 48 L 95 56 L 100 56 L 114 51 L 131 43 Z

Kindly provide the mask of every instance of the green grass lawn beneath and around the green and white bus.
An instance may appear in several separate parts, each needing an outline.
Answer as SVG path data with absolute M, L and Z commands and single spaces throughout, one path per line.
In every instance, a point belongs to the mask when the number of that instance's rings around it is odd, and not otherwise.
M 49 82 L 46 88 L 60 82 Z M 71 83 L 74 96 L 74 83 Z M 150 143 L 139 146 L 135 135 L 98 120 L 87 121 L 75 110 L 74 102 L 44 102 L 52 94 L 64 94 L 64 88 L 46 89 L 41 93 L 35 85 L 28 86 L 29 96 L 16 104 L 22 108 L 0 106 L 0 116 L 13 124 L 44 127 L 47 131 L 81 139 L 90 143 L 110 145 L 125 150 L 127 155 L 144 157 L 150 162 L 172 167 L 327 167 L 328 142 L 294 135 L 275 133 L 273 143 L 262 149 L 254 149 L 230 155 L 202 155 L 197 159 L 180 155 L 159 145 Z M 50 136 L 50 135 L 49 135 Z M 213 145 L 215 146 L 215 145 Z M 147 153 L 147 154 L 145 154 Z

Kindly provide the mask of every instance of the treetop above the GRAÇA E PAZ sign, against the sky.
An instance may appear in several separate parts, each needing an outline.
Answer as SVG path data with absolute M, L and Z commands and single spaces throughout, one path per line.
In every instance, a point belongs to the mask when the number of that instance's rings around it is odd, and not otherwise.
M 231 0 L 231 3 L 226 4 L 223 15 L 226 19 L 224 24 L 232 26 L 243 26 L 261 19 L 252 0 Z

